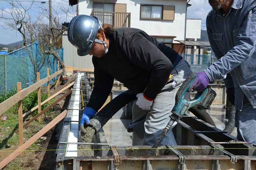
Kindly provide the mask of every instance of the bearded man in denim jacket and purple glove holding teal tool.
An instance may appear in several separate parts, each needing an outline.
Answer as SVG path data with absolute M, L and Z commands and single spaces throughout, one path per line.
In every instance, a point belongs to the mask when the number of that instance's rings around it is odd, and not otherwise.
M 206 19 L 212 51 L 218 61 L 197 73 L 194 90 L 223 79 L 236 106 L 238 140 L 256 144 L 256 3 L 255 0 L 209 0 Z

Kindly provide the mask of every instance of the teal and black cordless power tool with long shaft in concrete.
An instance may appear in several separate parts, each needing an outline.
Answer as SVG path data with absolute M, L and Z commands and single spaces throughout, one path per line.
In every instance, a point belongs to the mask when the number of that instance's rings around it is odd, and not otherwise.
M 194 105 L 197 105 L 197 108 L 201 110 L 210 108 L 210 105 L 212 104 L 216 93 L 208 86 L 203 92 L 197 92 L 192 100 L 188 101 L 184 98 L 185 93 L 192 90 L 192 84 L 196 80 L 196 77 L 196 73 L 191 73 L 188 78 L 182 83 L 179 91 L 175 96 L 175 105 L 172 109 L 172 115 L 169 116 L 170 121 L 168 122 L 162 134 L 159 136 L 158 140 L 155 142 L 154 146 L 150 149 L 147 155 L 154 154 L 155 150 L 161 144 L 163 138 L 170 130 L 173 123 L 175 121 L 178 122 L 189 108 L 193 107 Z

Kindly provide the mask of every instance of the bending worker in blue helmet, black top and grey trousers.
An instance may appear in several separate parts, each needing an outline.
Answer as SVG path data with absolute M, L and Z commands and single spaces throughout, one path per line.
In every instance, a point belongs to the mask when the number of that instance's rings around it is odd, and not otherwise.
M 128 127 L 132 145 L 153 146 L 170 120 L 177 91 L 192 73 L 187 61 L 142 30 L 102 25 L 88 15 L 71 20 L 68 40 L 78 55 L 93 55 L 94 88 L 80 126 L 102 107 L 116 78 L 138 98 Z M 172 130 L 161 143 L 165 144 L 176 145 Z

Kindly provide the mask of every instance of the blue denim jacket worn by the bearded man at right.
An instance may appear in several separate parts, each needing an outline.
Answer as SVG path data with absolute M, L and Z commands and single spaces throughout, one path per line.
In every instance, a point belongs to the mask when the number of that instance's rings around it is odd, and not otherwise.
M 204 72 L 210 81 L 223 79 L 226 88 L 234 86 L 237 109 L 244 95 L 256 108 L 256 1 L 234 0 L 226 15 L 211 10 L 206 26 L 218 61 Z

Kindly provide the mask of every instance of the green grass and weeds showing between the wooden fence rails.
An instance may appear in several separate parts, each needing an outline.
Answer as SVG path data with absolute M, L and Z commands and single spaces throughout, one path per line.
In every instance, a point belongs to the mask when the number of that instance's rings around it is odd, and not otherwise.
M 15 89 L 13 89 L 10 92 L 0 94 L 0 98 L 2 100 L 6 100 L 7 98 L 13 96 L 16 94 Z M 41 92 L 41 101 L 44 101 L 48 98 L 48 93 Z M 49 103 L 53 101 L 50 100 Z M 32 92 L 22 100 L 22 107 L 23 107 L 23 113 L 26 113 L 30 109 L 34 108 L 38 105 L 38 98 L 37 98 L 37 92 Z M 48 107 L 50 104 L 45 103 L 41 106 L 41 110 Z M 48 113 L 49 112 L 49 113 Z M 48 111 L 45 114 L 51 115 L 51 111 Z M 30 113 L 30 115 L 23 117 L 23 123 L 26 121 L 26 119 L 30 119 L 30 117 L 34 117 L 38 114 L 38 109 Z M 45 115 L 45 116 L 46 116 Z M 15 133 L 16 130 L 19 128 L 19 118 L 18 118 L 18 104 L 15 104 L 10 109 L 8 109 L 3 116 L 8 116 L 8 119 L 5 121 L 0 121 L 0 150 L 15 147 L 19 145 L 19 134 Z M 43 115 L 44 116 L 44 115 Z M 54 117 L 54 116 L 53 116 Z M 42 119 L 42 122 L 33 121 L 30 123 L 27 127 L 23 129 L 23 140 L 26 142 L 26 140 L 30 139 L 34 134 L 36 134 L 39 130 L 41 130 L 47 123 L 44 122 L 44 119 Z M 30 146 L 31 150 L 38 150 L 39 146 L 37 144 L 32 144 Z

